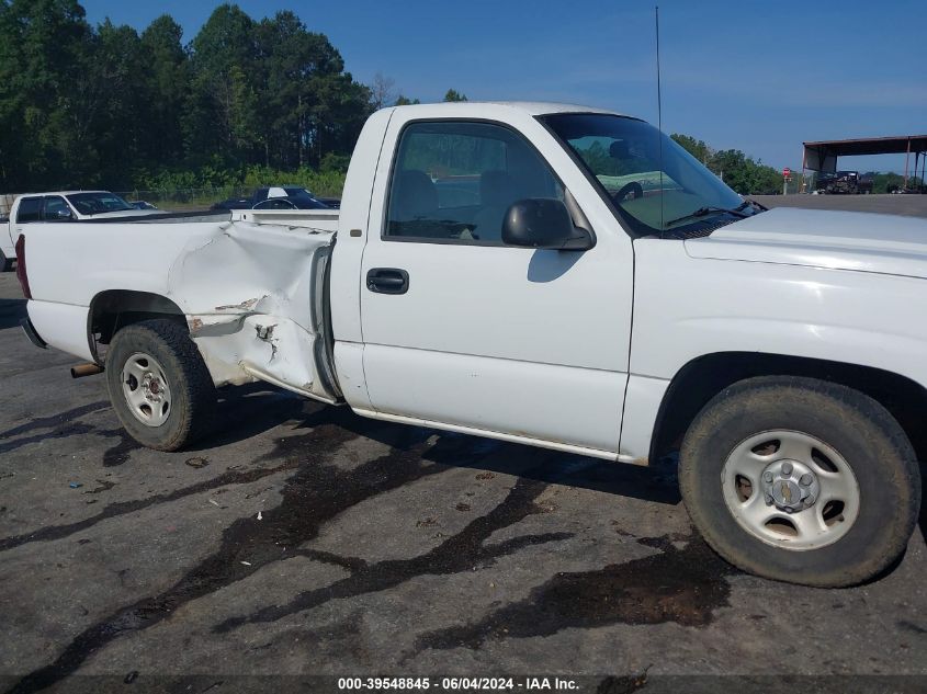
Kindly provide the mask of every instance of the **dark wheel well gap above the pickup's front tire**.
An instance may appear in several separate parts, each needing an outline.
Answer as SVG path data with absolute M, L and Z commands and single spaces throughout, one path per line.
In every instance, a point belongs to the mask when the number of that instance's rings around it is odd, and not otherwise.
M 715 395 L 754 376 L 807 376 L 859 390 L 892 413 L 918 458 L 927 459 L 927 432 L 922 426 L 927 410 L 927 390 L 919 384 L 871 366 L 757 352 L 708 354 L 679 369 L 657 412 L 651 459 L 659 459 L 678 448 L 689 424 Z

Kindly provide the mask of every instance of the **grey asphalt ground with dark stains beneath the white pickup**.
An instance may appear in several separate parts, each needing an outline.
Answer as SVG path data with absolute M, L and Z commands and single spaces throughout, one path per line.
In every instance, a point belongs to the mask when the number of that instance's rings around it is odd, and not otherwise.
M 26 341 L 23 312 L 0 275 L 0 689 L 452 673 L 586 674 L 612 692 L 693 673 L 927 684 L 924 515 L 886 576 L 815 590 L 717 559 L 668 462 L 372 422 L 262 386 L 224 391 L 197 450 L 156 453 L 124 436 L 102 377 L 74 380 L 74 359 Z

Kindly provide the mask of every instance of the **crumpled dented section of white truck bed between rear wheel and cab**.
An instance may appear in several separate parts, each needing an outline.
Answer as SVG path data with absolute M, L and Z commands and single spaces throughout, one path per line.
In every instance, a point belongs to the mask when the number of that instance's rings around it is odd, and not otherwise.
M 216 385 L 267 380 L 330 401 L 319 378 L 315 294 L 334 232 L 234 221 L 186 249 L 171 266 L 168 296 Z

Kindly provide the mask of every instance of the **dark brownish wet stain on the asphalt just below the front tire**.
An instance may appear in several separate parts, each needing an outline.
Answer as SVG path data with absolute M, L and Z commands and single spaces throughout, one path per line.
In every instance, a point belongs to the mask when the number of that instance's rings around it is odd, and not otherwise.
M 674 542 L 676 541 L 676 542 Z M 726 577 L 735 571 L 700 538 L 683 549 L 678 538 L 641 538 L 658 554 L 592 571 L 558 573 L 517 603 L 475 624 L 420 636 L 417 649 L 479 648 L 487 640 L 551 636 L 567 628 L 611 624 L 660 624 L 703 627 L 714 611 L 728 604 Z

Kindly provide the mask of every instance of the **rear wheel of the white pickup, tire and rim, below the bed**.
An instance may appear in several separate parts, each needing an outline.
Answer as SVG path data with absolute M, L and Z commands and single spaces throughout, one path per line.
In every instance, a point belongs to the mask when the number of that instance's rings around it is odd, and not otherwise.
M 178 451 L 211 430 L 216 390 L 185 326 L 157 319 L 123 328 L 105 373 L 113 409 L 142 445 Z

